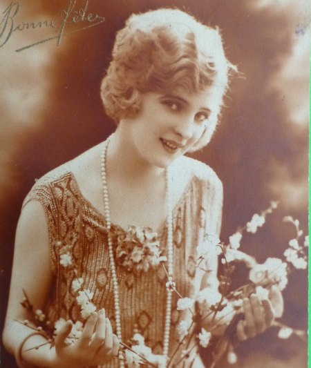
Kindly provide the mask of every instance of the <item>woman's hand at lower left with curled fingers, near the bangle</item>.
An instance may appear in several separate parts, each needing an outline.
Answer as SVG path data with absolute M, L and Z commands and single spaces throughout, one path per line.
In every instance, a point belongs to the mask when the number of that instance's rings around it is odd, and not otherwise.
M 55 367 L 87 367 L 102 365 L 117 356 L 119 340 L 113 334 L 111 322 L 104 309 L 91 313 L 82 335 L 73 345 L 68 345 L 72 323 L 67 322 L 55 337 Z

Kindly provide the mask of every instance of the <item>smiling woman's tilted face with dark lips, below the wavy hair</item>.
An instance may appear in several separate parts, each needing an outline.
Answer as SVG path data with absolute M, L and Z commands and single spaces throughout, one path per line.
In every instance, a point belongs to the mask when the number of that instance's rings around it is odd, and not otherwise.
M 205 129 L 212 135 L 223 93 L 145 93 L 140 113 L 124 122 L 130 144 L 141 159 L 165 168 L 198 142 Z

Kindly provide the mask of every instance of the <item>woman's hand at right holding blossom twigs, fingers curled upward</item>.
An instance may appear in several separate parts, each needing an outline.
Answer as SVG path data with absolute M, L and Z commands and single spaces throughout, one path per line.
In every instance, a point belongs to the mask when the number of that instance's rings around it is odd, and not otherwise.
M 281 291 L 272 287 L 269 299 L 259 302 L 258 297 L 252 294 L 250 298 L 243 300 L 244 320 L 236 326 L 238 340 L 247 340 L 262 333 L 271 327 L 275 317 L 281 317 L 283 313 L 283 297 Z

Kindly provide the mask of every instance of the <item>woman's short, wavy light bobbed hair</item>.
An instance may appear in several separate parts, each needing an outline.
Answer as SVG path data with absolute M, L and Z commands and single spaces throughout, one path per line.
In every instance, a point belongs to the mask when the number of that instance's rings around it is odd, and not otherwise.
M 215 86 L 224 95 L 234 70 L 217 28 L 204 26 L 177 9 L 133 14 L 117 32 L 112 60 L 102 80 L 102 101 L 106 114 L 119 122 L 139 113 L 142 94 L 147 92 L 182 89 L 196 93 Z M 203 133 L 195 149 L 209 139 Z

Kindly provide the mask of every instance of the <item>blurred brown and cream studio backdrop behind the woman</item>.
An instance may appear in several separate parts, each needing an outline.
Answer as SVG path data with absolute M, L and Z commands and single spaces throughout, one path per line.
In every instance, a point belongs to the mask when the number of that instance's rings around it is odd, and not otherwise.
M 50 19 L 59 26 L 69 3 L 21 0 L 15 26 Z M 10 1 L 0 2 L 0 17 L 8 6 Z M 85 6 L 86 0 L 75 3 L 76 10 Z M 224 184 L 221 239 L 227 242 L 238 226 L 266 209 L 271 200 L 278 200 L 279 208 L 267 216 L 258 233 L 245 235 L 241 250 L 258 262 L 281 258 L 295 236 L 293 226 L 282 222 L 285 215 L 299 219 L 308 233 L 310 2 L 90 0 L 87 12 L 105 18 L 100 25 L 70 33 L 59 46 L 51 40 L 15 52 L 57 35 L 53 28 L 24 28 L 12 32 L 0 48 L 0 329 L 23 197 L 35 178 L 113 131 L 99 90 L 115 31 L 132 12 L 160 6 L 177 6 L 203 23 L 218 26 L 227 57 L 241 72 L 232 80 L 211 143 L 194 154 L 214 168 Z M 67 24 L 65 32 L 87 25 Z M 0 19 L 0 37 L 4 27 Z M 238 268 L 235 282 L 246 275 L 243 267 Z M 283 292 L 281 320 L 296 329 L 307 329 L 307 282 L 307 271 L 296 271 Z M 280 340 L 272 328 L 238 348 L 236 367 L 306 367 L 306 351 L 305 341 L 296 336 Z M 3 348 L 1 367 L 15 367 Z

